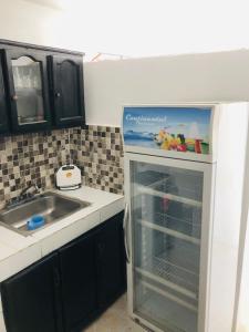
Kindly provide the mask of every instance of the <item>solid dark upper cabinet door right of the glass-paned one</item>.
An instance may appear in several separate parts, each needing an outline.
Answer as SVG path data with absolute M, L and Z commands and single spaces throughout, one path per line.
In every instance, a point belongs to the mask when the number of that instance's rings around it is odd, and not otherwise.
M 51 60 L 54 125 L 70 127 L 85 124 L 83 60 L 81 56 L 53 55 Z

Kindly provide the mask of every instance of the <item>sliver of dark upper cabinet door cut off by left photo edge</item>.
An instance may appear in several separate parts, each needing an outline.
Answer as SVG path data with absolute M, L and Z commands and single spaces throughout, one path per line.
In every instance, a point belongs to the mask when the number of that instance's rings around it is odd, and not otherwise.
M 7 95 L 6 86 L 3 80 L 3 56 L 0 53 L 0 134 L 7 133 L 9 131 L 8 124 L 8 105 L 7 105 Z

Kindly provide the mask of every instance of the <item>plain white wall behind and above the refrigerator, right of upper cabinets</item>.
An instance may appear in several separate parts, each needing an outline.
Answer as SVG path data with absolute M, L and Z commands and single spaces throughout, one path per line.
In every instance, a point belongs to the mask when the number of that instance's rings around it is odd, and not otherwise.
M 121 124 L 124 104 L 249 101 L 249 51 L 85 63 L 89 124 Z

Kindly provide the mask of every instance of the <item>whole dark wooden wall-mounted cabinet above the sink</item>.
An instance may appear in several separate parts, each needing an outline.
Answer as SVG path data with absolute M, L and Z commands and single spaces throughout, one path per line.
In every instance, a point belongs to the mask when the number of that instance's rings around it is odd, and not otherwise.
M 83 54 L 0 41 L 0 133 L 82 126 Z

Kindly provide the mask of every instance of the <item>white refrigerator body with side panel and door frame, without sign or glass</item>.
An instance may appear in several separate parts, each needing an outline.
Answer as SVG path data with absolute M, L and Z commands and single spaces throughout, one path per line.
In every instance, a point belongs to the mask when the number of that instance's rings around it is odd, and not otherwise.
M 128 106 L 165 105 L 125 105 Z M 249 103 L 176 103 L 166 106 L 211 107 L 210 154 L 147 149 L 128 146 L 124 142 L 125 199 L 129 204 L 129 162 L 133 159 L 145 163 L 154 160 L 155 164 L 160 163 L 165 166 L 190 167 L 205 173 L 198 332 L 232 331 Z M 131 227 L 126 232 L 129 239 L 128 247 L 132 248 Z M 127 264 L 127 282 L 129 315 L 154 331 L 162 331 L 134 313 L 131 263 Z

